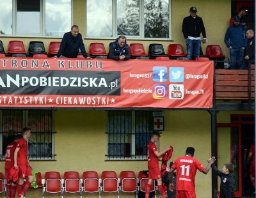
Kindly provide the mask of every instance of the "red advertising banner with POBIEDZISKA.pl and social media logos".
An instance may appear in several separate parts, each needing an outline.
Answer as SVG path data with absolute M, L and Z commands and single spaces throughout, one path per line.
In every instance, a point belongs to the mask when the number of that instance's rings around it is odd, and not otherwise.
M 0 69 L 0 107 L 212 107 L 212 61 L 4 57 Z

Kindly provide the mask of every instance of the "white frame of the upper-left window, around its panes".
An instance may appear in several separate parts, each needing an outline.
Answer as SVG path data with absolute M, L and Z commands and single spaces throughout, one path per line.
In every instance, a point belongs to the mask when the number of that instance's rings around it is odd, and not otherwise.
M 17 33 L 17 0 L 12 0 L 12 34 L 1 34 L 2 37 L 29 37 L 29 38 L 62 38 L 60 36 L 45 35 L 45 0 L 40 0 L 40 33 Z M 71 0 L 71 25 L 74 24 L 74 0 Z M 71 28 L 71 26 L 70 26 Z

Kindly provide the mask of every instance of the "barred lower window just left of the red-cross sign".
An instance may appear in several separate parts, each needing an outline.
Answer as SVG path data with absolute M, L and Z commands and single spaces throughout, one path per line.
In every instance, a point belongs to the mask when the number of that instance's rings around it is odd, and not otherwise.
M 108 112 L 108 160 L 145 160 L 153 132 L 150 111 Z

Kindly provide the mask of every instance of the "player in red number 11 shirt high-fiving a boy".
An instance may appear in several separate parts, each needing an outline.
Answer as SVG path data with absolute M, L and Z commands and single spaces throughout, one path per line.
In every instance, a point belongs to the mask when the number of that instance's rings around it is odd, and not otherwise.
M 195 198 L 195 176 L 196 170 L 207 174 L 211 168 L 211 164 L 215 161 L 215 157 L 212 156 L 211 160 L 206 168 L 204 168 L 198 160 L 193 158 L 195 149 L 193 147 L 188 147 L 186 149 L 186 156 L 181 156 L 175 160 L 169 173 L 170 180 L 170 190 L 173 191 L 174 184 L 172 181 L 172 175 L 175 170 L 176 172 L 176 197 L 182 198 Z

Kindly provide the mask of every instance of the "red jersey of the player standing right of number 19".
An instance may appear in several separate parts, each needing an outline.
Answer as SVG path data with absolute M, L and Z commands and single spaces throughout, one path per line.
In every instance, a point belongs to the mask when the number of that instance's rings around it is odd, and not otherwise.
M 17 148 L 20 149 L 17 156 L 17 165 L 28 165 L 28 144 L 24 137 L 17 142 Z

